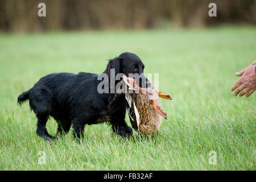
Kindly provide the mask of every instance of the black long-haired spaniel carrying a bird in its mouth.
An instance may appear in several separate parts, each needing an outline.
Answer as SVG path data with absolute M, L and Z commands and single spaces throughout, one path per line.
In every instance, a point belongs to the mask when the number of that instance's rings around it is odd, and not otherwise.
M 133 53 L 125 52 L 109 60 L 104 73 L 110 78 L 110 69 L 118 73 L 143 73 L 144 64 Z M 142 74 L 144 76 L 144 73 Z M 85 124 L 109 121 L 114 133 L 127 137 L 133 133 L 125 122 L 125 94 L 98 93 L 100 80 L 93 73 L 53 73 L 40 78 L 27 92 L 18 97 L 18 103 L 29 100 L 30 107 L 38 118 L 36 133 L 47 140 L 54 140 L 48 134 L 46 122 L 51 115 L 58 123 L 57 134 L 68 133 L 71 124 L 74 137 L 83 137 Z M 144 78 L 146 78 L 144 76 Z M 140 79 L 142 81 L 143 79 Z M 150 84 L 147 82 L 140 84 Z M 117 82 L 115 82 L 117 84 Z M 109 88 L 110 89 L 110 88 Z

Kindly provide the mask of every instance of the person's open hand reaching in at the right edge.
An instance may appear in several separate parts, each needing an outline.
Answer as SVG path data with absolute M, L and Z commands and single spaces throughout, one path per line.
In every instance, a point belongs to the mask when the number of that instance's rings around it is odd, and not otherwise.
M 256 90 L 256 60 L 253 61 L 251 65 L 243 69 L 241 72 L 235 73 L 236 76 L 241 76 L 237 80 L 237 82 L 232 86 L 230 89 L 231 91 L 234 91 L 234 96 L 237 96 L 239 93 L 239 96 L 242 97 L 246 94 L 245 97 L 249 97 L 253 92 Z

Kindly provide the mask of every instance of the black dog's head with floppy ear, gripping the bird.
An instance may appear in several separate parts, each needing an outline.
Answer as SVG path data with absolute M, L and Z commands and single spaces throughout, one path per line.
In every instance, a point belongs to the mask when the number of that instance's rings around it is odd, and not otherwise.
M 109 60 L 105 73 L 110 77 L 110 69 L 115 70 L 115 76 L 123 73 L 127 77 L 133 77 L 139 86 L 147 88 L 151 86 L 151 82 L 144 75 L 144 64 L 142 60 L 134 53 L 124 52 L 118 57 Z

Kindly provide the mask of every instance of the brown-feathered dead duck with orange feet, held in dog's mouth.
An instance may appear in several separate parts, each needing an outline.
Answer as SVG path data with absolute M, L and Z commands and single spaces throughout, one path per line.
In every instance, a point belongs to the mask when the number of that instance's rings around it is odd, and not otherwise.
M 170 95 L 158 92 L 151 85 L 141 88 L 134 78 L 123 76 L 126 92 L 127 110 L 133 129 L 144 135 L 154 136 L 160 130 L 162 118 L 167 119 L 167 113 L 162 110 L 159 97 L 172 100 Z

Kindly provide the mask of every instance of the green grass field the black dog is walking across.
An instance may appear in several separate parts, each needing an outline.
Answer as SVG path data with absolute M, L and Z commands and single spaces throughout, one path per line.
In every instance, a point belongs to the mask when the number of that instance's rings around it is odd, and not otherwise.
M 0 34 L 1 170 L 255 170 L 256 93 L 230 92 L 256 59 L 256 27 L 195 30 Z M 85 126 L 50 143 L 36 135 L 36 117 L 16 99 L 53 72 L 104 71 L 107 59 L 134 52 L 146 73 L 159 73 L 168 119 L 154 138 L 123 140 L 107 123 Z M 129 118 L 126 117 L 130 125 Z M 54 119 L 47 123 L 55 135 Z M 135 133 L 134 133 L 135 134 Z M 46 164 L 39 164 L 39 151 Z M 216 151 L 217 164 L 209 164 Z

